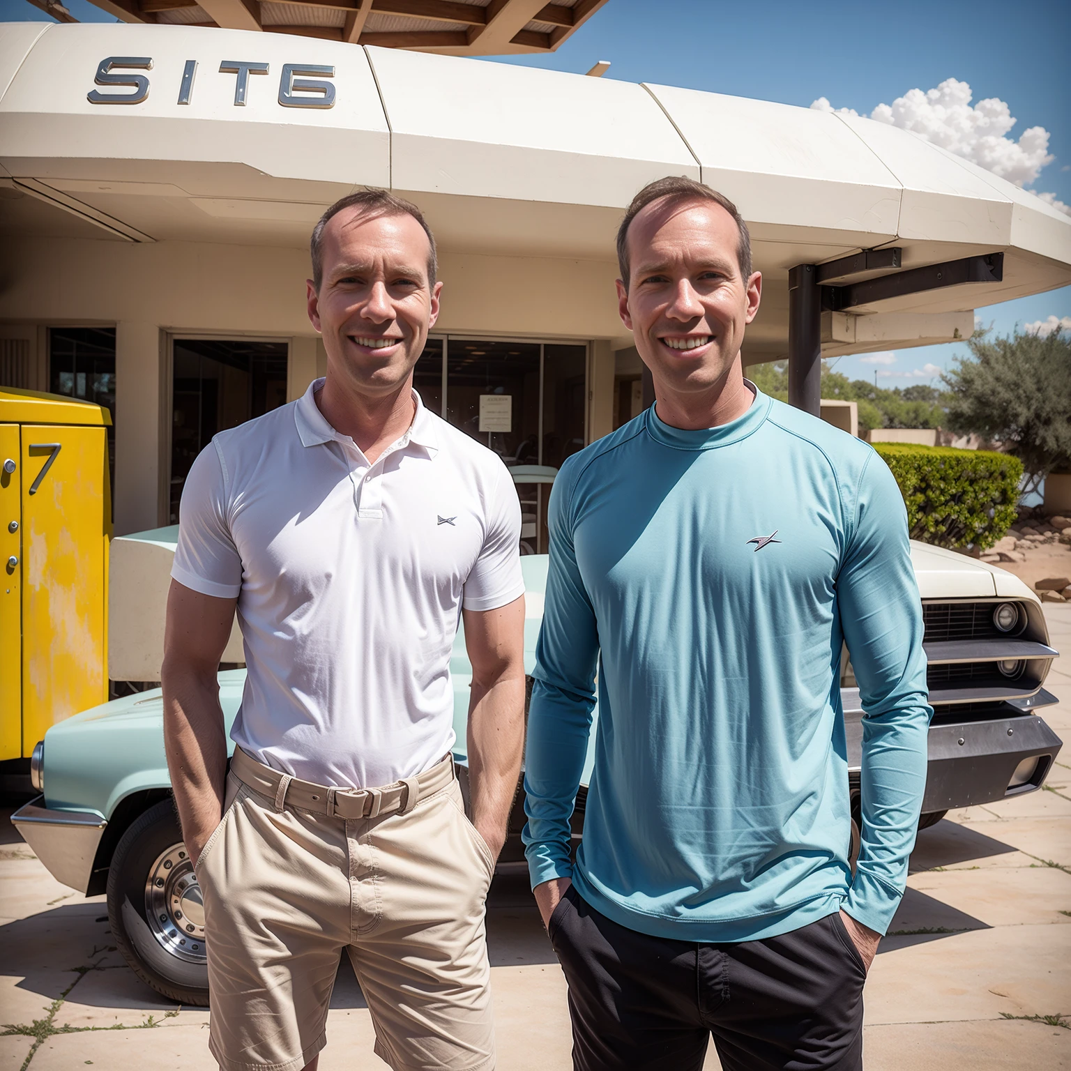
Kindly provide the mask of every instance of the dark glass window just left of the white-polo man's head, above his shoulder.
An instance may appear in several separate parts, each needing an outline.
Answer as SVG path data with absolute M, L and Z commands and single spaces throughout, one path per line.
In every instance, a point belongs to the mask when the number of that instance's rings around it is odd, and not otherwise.
M 286 402 L 287 345 L 177 338 L 172 347 L 170 524 L 194 458 L 212 436 Z

